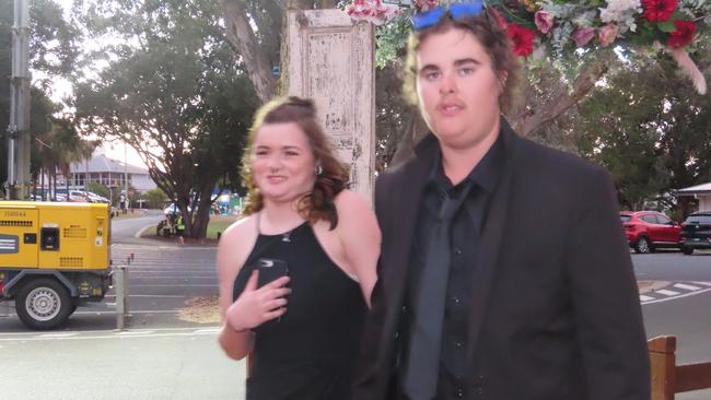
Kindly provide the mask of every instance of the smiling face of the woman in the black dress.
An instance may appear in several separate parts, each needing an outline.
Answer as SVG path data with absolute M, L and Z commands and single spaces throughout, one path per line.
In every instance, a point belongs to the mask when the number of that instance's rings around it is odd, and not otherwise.
M 255 136 L 254 179 L 265 203 L 290 202 L 314 187 L 314 154 L 295 122 L 265 123 Z

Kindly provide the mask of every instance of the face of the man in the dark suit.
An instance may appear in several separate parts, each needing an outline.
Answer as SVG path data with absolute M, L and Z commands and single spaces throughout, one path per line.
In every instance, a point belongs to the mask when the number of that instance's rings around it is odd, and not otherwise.
M 417 66 L 420 111 L 442 145 L 469 148 L 496 139 L 502 85 L 470 32 L 451 28 L 427 37 Z

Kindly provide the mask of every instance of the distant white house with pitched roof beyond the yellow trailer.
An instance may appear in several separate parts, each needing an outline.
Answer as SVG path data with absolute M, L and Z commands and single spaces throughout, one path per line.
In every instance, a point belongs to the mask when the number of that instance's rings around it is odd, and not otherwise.
M 70 169 L 69 185 L 84 187 L 84 183 L 88 181 L 109 188 L 123 188 L 125 176 L 128 177 L 128 184 L 140 192 L 156 187 L 148 174 L 148 169 L 109 158 L 105 154 L 97 154 L 90 161 L 73 163 Z

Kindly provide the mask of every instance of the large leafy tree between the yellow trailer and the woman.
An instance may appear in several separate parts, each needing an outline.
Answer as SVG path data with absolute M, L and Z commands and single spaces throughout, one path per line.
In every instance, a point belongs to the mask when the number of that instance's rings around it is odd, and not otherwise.
M 205 235 L 210 193 L 238 181 L 238 160 L 258 101 L 222 36 L 219 4 L 193 1 L 89 2 L 92 36 L 116 37 L 108 67 L 78 82 L 77 116 L 86 132 L 119 138 L 143 158 L 159 187 Z M 190 223 L 196 224 L 193 231 Z

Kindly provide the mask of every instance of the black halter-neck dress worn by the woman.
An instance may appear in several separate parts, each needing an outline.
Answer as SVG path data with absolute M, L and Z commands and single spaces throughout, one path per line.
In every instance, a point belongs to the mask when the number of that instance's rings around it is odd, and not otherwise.
M 308 223 L 259 234 L 234 282 L 244 290 L 260 258 L 289 266 L 287 313 L 255 329 L 247 400 L 346 400 L 366 305 L 360 285 L 326 255 Z

